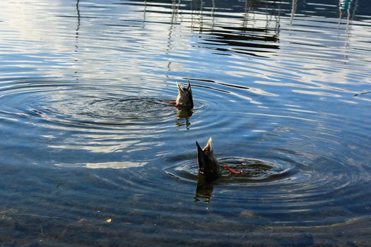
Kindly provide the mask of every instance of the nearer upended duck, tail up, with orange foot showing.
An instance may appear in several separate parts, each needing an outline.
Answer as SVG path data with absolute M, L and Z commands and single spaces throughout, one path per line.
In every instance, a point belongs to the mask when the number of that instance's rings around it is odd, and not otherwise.
M 240 171 L 231 169 L 228 165 L 224 164 L 220 166 L 218 160 L 216 160 L 213 152 L 213 139 L 209 138 L 204 148 L 201 148 L 199 143 L 196 141 L 198 162 L 199 162 L 199 174 L 204 175 L 206 182 L 210 183 L 218 179 L 222 174 L 222 169 L 225 169 L 230 174 L 240 174 Z

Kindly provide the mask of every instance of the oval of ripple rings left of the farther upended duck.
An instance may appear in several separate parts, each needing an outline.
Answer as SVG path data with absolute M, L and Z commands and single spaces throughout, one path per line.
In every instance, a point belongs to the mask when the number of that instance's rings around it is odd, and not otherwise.
M 169 121 L 174 115 L 169 99 L 151 95 L 139 97 L 128 88 L 69 85 L 39 85 L 2 92 L 2 112 L 18 116 L 40 117 L 67 125 L 124 126 L 135 123 L 153 125 Z M 129 90 L 132 90 L 129 88 Z M 13 107 L 17 111 L 13 111 Z

